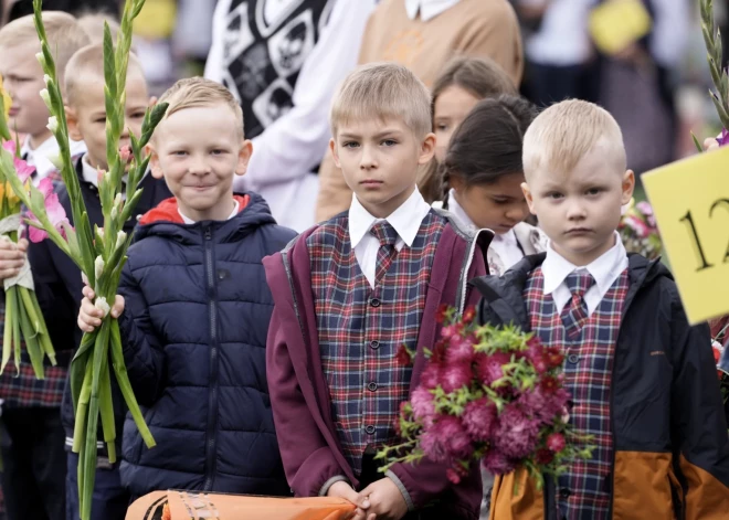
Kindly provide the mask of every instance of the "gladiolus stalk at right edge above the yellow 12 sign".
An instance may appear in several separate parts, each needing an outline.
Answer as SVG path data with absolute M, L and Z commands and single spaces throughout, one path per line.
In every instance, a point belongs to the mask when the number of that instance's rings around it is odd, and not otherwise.
M 721 56 L 721 32 L 714 20 L 714 0 L 700 0 L 699 8 L 709 72 L 711 73 L 711 82 L 716 88 L 716 92 L 709 91 L 709 95 L 722 126 L 721 135 L 717 138 L 717 141 L 719 146 L 725 146 L 729 144 L 729 131 L 727 130 L 729 128 L 729 76 L 727 76 L 727 70 L 723 68 L 723 59 Z M 704 148 L 701 144 L 694 134 L 691 134 L 691 137 L 699 153 L 702 152 Z

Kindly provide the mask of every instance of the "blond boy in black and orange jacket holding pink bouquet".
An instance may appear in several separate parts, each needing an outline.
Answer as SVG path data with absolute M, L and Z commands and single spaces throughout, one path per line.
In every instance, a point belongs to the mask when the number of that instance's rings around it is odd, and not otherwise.
M 474 280 L 478 316 L 566 352 L 570 423 L 593 449 L 541 490 L 525 468 L 497 477 L 490 518 L 726 519 L 729 438 L 709 328 L 688 325 L 668 269 L 628 256 L 615 231 L 635 185 L 615 119 L 587 102 L 552 105 L 525 135 L 524 168 L 549 247 Z

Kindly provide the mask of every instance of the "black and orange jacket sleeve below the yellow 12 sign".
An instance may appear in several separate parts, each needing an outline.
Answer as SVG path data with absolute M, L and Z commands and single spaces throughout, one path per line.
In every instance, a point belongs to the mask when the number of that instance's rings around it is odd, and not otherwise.
M 686 519 L 729 511 L 729 436 L 707 325 L 689 327 L 670 287 L 674 383 L 672 415 L 686 484 Z

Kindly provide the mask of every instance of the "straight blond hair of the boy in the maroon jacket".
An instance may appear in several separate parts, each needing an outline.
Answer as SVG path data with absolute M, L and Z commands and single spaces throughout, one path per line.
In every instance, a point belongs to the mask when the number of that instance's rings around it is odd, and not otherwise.
M 395 63 L 357 67 L 331 105 L 331 135 L 350 120 L 398 118 L 419 138 L 432 129 L 431 94 L 409 68 Z

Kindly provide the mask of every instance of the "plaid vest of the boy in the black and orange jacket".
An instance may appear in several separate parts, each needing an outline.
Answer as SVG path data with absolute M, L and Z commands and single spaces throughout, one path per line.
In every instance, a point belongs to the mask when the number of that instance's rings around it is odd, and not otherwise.
M 573 338 L 568 337 L 551 295 L 543 294 L 543 284 L 539 267 L 530 274 L 524 289 L 531 329 L 545 346 L 564 349 L 564 384 L 573 401 L 570 423 L 578 433 L 592 435 L 591 444 L 595 446 L 591 459 L 577 460 L 559 478 L 559 518 L 605 520 L 610 512 L 613 464 L 611 379 L 628 289 L 627 269 Z

